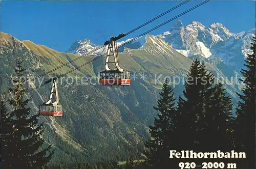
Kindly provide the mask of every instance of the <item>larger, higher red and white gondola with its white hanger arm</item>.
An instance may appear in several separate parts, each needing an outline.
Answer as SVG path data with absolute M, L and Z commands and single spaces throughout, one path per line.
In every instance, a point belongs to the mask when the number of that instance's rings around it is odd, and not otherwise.
M 119 67 L 118 52 L 116 51 L 114 38 L 108 41 L 108 52 L 106 52 L 105 71 L 100 72 L 100 85 L 108 86 L 125 86 L 131 84 L 130 72 Z M 113 53 L 111 52 L 113 50 Z M 109 62 L 109 58 L 113 56 L 114 62 Z M 115 63 L 116 69 L 109 68 L 109 63 Z

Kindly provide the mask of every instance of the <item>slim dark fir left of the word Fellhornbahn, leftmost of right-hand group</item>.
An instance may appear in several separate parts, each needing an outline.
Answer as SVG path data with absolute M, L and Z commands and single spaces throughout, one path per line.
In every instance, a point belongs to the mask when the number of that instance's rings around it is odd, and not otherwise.
M 169 154 L 169 143 L 172 138 L 170 135 L 170 127 L 173 116 L 176 115 L 175 98 L 173 89 L 168 85 L 167 78 L 162 87 L 160 99 L 157 101 L 157 107 L 153 107 L 155 110 L 160 111 L 158 118 L 155 118 L 154 126 L 150 126 L 151 139 L 148 139 L 145 143 L 146 147 L 146 163 L 149 166 L 154 167 L 166 167 L 166 162 Z M 153 138 L 153 139 L 152 139 Z

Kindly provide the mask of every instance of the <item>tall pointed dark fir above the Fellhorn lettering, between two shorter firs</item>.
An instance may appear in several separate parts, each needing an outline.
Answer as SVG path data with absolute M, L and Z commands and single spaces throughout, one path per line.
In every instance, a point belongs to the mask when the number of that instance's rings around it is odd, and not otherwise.
M 206 125 L 203 119 L 213 81 L 214 75 L 207 72 L 204 64 L 200 66 L 200 62 L 196 59 L 190 66 L 185 81 L 183 91 L 185 99 L 180 97 L 178 103 L 180 116 L 177 127 L 182 133 L 180 135 L 181 145 L 185 150 L 202 149 L 199 145 L 199 138 Z

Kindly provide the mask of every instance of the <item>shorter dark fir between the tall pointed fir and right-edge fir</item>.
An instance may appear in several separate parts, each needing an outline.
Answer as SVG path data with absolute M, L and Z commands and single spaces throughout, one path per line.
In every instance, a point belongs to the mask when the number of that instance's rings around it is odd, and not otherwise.
M 232 98 L 226 96 L 222 83 L 212 89 L 204 117 L 205 129 L 201 130 L 200 144 L 206 152 L 230 152 L 233 150 L 231 139 Z M 210 145 L 210 146 L 209 146 Z M 223 162 L 223 159 L 220 159 Z

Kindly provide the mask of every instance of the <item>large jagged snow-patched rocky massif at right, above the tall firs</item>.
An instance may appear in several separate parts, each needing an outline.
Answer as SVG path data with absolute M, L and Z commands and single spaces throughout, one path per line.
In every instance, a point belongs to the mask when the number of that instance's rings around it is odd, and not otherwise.
M 231 33 L 222 23 L 212 23 L 204 26 L 193 21 L 183 28 L 177 29 L 177 24 L 169 32 L 158 36 L 172 44 L 173 48 L 189 57 L 200 54 L 205 58 L 218 57 L 230 66 L 241 67 L 243 59 L 250 52 L 252 35 L 255 28 L 250 31 Z

